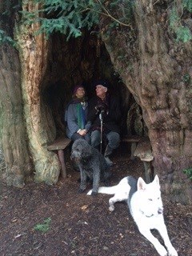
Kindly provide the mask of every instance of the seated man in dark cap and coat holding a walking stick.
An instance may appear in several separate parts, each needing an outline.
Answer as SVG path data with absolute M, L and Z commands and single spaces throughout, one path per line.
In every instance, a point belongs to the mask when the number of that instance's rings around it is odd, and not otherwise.
M 92 98 L 88 106 L 87 120 L 91 122 L 90 126 L 90 144 L 98 147 L 101 142 L 101 119 L 102 134 L 107 139 L 105 150 L 106 162 L 112 165 L 110 154 L 119 146 L 120 128 L 118 126 L 121 120 L 121 111 L 118 99 L 109 93 L 108 83 L 98 80 L 94 82 L 96 96 Z

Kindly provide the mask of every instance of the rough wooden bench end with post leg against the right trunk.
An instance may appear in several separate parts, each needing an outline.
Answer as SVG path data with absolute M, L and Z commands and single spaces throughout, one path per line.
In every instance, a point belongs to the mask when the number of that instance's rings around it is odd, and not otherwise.
M 140 160 L 143 162 L 146 183 L 150 183 L 153 179 L 151 161 L 154 159 L 154 156 L 152 154 L 149 138 L 141 138 L 139 140 L 138 145 L 134 150 L 134 157 L 140 158 Z

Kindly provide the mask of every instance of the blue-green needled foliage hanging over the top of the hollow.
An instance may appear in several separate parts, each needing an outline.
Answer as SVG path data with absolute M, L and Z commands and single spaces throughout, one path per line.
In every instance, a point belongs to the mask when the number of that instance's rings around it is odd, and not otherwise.
M 54 31 L 78 38 L 82 35 L 82 28 L 88 30 L 98 24 L 98 15 L 101 6 L 93 0 L 35 0 L 42 4 L 42 10 L 34 13 L 22 12 L 27 24 L 40 22 L 38 34 L 46 33 L 47 36 Z M 39 14 L 39 15 L 38 15 Z M 40 16 L 40 17 L 38 17 Z

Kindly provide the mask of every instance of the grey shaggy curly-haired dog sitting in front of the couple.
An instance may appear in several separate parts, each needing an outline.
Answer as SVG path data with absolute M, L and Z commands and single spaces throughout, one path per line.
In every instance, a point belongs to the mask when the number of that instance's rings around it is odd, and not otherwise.
M 86 178 L 93 180 L 91 195 L 98 194 L 100 180 L 105 186 L 110 186 L 110 166 L 107 165 L 104 156 L 85 139 L 79 138 L 74 141 L 70 158 L 78 165 L 81 174 L 79 192 L 86 190 Z

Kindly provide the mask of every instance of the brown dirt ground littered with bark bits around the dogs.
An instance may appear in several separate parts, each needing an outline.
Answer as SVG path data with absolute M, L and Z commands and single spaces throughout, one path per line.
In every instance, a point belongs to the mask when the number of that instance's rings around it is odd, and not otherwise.
M 113 157 L 112 185 L 127 175 L 143 177 L 142 162 L 131 161 L 122 151 Z M 1 256 L 158 256 L 139 234 L 125 203 L 117 203 L 110 213 L 110 195 L 78 194 L 79 173 L 69 159 L 67 171 L 66 180 L 61 178 L 55 186 L 29 182 L 17 189 L 2 183 Z M 162 198 L 166 226 L 178 255 L 192 255 L 192 207 Z

